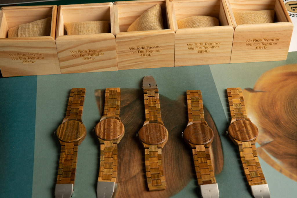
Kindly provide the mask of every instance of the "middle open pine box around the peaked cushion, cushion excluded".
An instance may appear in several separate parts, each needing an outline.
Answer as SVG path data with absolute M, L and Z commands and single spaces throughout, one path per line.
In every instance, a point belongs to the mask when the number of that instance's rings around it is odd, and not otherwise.
M 149 8 L 162 9 L 162 30 L 127 32 L 128 27 Z M 168 20 L 165 0 L 114 2 L 118 69 L 174 66 L 174 32 Z

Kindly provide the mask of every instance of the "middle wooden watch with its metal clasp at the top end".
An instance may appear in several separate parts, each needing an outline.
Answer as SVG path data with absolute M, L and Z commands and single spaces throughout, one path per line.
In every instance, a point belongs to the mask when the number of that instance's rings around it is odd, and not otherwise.
M 143 77 L 145 122 L 138 132 L 145 153 L 146 179 L 149 191 L 165 190 L 162 148 L 168 141 L 168 131 L 161 120 L 157 83 L 152 76 Z

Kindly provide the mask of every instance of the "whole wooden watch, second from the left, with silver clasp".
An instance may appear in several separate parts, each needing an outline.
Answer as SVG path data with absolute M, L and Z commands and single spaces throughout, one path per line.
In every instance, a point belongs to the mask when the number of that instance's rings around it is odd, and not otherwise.
M 120 95 L 120 88 L 105 90 L 103 116 L 95 126 L 95 133 L 101 144 L 97 198 L 111 198 L 116 191 L 117 144 L 124 136 L 124 125 L 119 117 Z

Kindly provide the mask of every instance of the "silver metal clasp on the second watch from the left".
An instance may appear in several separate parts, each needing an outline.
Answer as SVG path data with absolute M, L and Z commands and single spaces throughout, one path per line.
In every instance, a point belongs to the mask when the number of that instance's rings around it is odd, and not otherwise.
M 97 198 L 113 198 L 116 197 L 118 184 L 114 182 L 97 182 Z

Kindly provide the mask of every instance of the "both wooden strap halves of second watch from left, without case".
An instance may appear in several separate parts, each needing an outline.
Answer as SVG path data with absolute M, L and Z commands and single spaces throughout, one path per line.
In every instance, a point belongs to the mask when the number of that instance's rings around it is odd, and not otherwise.
M 105 90 L 105 104 L 103 117 L 119 118 L 120 115 L 120 88 L 107 88 Z M 113 140 L 105 140 L 100 145 L 100 167 L 98 181 L 116 182 L 118 146 Z

